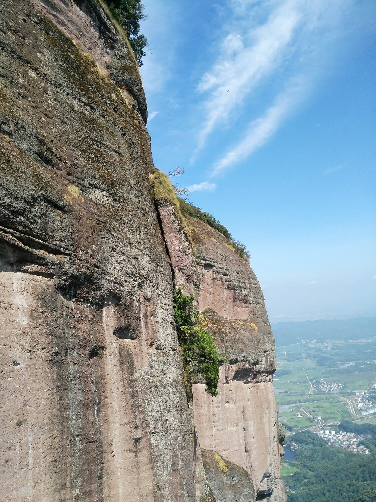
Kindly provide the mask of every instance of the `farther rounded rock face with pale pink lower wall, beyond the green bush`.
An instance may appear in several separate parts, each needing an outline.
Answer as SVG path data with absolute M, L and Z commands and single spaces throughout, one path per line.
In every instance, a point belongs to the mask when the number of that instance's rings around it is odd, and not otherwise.
M 251 476 L 258 497 L 283 500 L 278 407 L 272 375 L 274 339 L 264 298 L 247 260 L 227 239 L 190 221 L 200 276 L 199 308 L 216 345 L 229 360 L 220 367 L 218 395 L 193 385 L 200 445 Z

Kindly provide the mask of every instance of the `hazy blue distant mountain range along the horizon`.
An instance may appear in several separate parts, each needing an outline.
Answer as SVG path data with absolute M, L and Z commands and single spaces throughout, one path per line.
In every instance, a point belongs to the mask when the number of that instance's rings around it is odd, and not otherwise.
M 300 340 L 361 340 L 376 336 L 376 317 L 357 317 L 348 320 L 279 322 L 272 324 L 277 346 Z

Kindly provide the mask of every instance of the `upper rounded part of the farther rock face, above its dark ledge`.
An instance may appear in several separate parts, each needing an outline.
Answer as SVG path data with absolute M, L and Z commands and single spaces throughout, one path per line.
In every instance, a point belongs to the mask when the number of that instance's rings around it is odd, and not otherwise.
M 249 263 L 228 240 L 190 219 L 199 274 L 199 311 L 230 360 L 230 379 L 270 380 L 275 371 L 274 338 L 264 297 Z

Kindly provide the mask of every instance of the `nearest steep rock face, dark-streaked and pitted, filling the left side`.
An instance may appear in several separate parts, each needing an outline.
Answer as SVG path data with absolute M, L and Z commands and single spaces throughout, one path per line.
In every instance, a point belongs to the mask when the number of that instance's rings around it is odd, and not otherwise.
M 0 10 L 1 498 L 194 500 L 137 68 L 95 2 Z

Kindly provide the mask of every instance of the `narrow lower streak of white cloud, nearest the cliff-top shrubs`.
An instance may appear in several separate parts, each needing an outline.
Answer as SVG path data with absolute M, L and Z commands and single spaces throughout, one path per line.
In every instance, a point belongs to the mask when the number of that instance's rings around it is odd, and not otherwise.
M 275 103 L 256 120 L 252 121 L 240 142 L 220 159 L 211 175 L 217 176 L 225 169 L 245 160 L 257 148 L 261 147 L 280 126 L 285 117 L 291 113 L 306 92 L 307 83 L 302 79 L 277 96 Z

